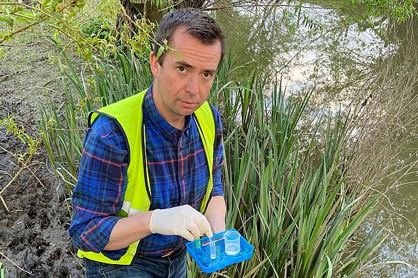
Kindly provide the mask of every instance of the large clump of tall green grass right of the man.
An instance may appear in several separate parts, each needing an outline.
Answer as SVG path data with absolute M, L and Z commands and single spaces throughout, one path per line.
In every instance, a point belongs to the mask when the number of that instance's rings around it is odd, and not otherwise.
M 231 64 L 226 60 L 224 66 Z M 228 84 L 222 74 L 234 70 L 220 71 L 220 83 Z M 212 98 L 225 119 L 240 119 L 224 126 L 227 222 L 255 247 L 253 259 L 226 275 L 359 275 L 382 237 L 376 232 L 353 241 L 378 200 L 367 181 L 350 186 L 346 160 L 358 139 L 349 136 L 355 123 L 344 113 L 308 113 L 309 93 L 295 102 L 284 97 L 280 82 L 271 90 L 266 85 L 253 74 L 233 88 L 233 96 L 217 84 L 222 90 L 215 89 Z

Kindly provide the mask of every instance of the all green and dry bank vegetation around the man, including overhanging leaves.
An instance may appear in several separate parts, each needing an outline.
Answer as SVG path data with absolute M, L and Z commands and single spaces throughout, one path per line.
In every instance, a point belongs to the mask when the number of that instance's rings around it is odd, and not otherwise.
M 0 14 L 9 25 L 12 19 L 27 23 L 3 33 L 4 42 L 35 23 L 56 31 L 52 40 L 62 54 L 56 63 L 65 101 L 40 104 L 36 118 L 49 165 L 66 188 L 68 210 L 88 112 L 140 92 L 152 81 L 147 57 L 155 24 L 144 17 L 116 28 L 121 13 L 127 15 L 125 7 L 105 2 L 96 10 L 99 17 L 82 19 L 82 24 L 76 23 L 83 1 L 42 1 L 34 8 L 19 2 Z M 297 15 L 302 2 L 291 2 L 284 4 Z M 373 6 L 376 1 L 341 2 Z M 373 13 L 397 20 L 412 15 L 413 6 L 407 5 L 412 2 L 390 2 L 398 6 L 382 4 L 383 10 Z M 401 3 L 403 10 L 389 13 Z M 88 10 L 84 7 L 86 15 Z M 308 28 L 318 26 L 308 15 L 304 22 Z M 83 57 L 82 65 L 69 58 L 74 52 Z M 227 227 L 254 245 L 254 256 L 212 277 L 362 277 L 385 263 L 398 263 L 376 261 L 373 252 L 386 232 L 364 223 L 385 198 L 378 185 L 389 178 L 396 154 L 410 142 L 405 125 L 417 125 L 410 111 L 418 108 L 413 93 L 418 72 L 412 63 L 376 63 L 370 76 L 350 104 L 318 107 L 315 88 L 288 91 L 280 76 L 237 62 L 233 52 L 226 56 L 210 101 L 224 123 Z M 370 91 L 374 95 L 364 95 Z M 206 277 L 193 261 L 188 263 L 188 277 Z

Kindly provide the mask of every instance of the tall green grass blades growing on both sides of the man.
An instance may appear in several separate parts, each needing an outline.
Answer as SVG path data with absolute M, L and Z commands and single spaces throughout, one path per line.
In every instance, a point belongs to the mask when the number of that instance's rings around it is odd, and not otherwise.
M 59 109 L 42 107 L 40 129 L 48 131 L 49 159 L 69 194 L 88 111 L 139 92 L 151 81 L 143 60 L 118 54 L 112 63 L 83 78 L 66 60 L 67 102 Z M 355 155 L 350 115 L 309 113 L 310 92 L 291 100 L 280 81 L 267 89 L 267 79 L 256 72 L 232 81 L 236 70 L 227 56 L 211 101 L 224 121 L 227 227 L 254 245 L 254 256 L 212 277 L 358 275 L 382 238 L 355 238 L 378 197 L 370 194 L 366 179 L 364 186 L 350 186 L 346 161 Z M 192 261 L 188 276 L 206 277 Z

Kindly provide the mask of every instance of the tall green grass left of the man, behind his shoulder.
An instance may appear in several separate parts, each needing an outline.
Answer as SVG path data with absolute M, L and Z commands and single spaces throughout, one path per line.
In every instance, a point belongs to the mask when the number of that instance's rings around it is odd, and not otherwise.
M 77 183 L 88 113 L 144 90 L 152 75 L 146 59 L 130 52 L 100 63 L 91 74 L 78 74 L 66 56 L 60 68 L 66 101 L 58 108 L 54 103 L 42 104 L 38 129 L 48 131 L 44 141 L 49 163 L 71 196 Z

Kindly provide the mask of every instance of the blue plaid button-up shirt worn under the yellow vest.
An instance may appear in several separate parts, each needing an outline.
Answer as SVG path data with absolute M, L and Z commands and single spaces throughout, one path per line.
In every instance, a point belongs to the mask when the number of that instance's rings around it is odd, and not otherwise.
M 224 163 L 222 122 L 215 111 L 216 137 L 212 170 L 212 196 L 223 195 L 221 166 Z M 189 204 L 199 211 L 209 179 L 206 154 L 194 118 L 187 116 L 182 131 L 157 112 L 148 89 L 143 106 L 146 125 L 146 156 L 153 207 L 171 208 Z M 123 250 L 104 251 L 111 230 L 120 219 L 127 185 L 127 142 L 121 129 L 107 116 L 100 116 L 88 129 L 77 186 L 72 193 L 72 222 L 69 234 L 77 248 L 103 252 L 120 259 Z M 162 256 L 185 244 L 180 236 L 150 234 L 139 241 L 137 254 Z

